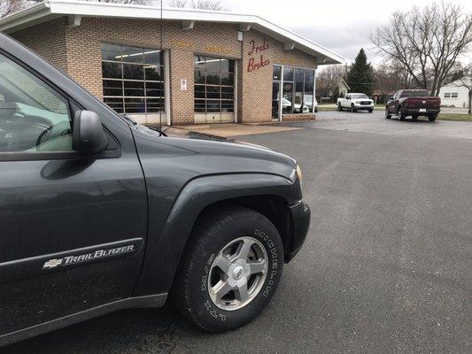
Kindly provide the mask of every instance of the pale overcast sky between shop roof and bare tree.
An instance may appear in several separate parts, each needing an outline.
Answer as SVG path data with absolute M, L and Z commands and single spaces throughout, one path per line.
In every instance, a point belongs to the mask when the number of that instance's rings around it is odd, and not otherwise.
M 450 0 L 472 12 L 472 1 Z M 423 6 L 431 0 L 223 0 L 232 12 L 252 13 L 352 60 L 360 48 L 369 60 L 381 60 L 369 41 L 370 31 L 391 12 Z M 470 58 L 472 59 L 472 58 Z

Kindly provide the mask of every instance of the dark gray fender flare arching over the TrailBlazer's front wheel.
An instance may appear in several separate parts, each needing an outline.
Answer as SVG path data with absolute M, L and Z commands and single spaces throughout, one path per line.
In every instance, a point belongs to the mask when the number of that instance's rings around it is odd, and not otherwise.
M 296 204 L 302 197 L 298 181 L 294 183 L 268 173 L 210 175 L 188 182 L 169 212 L 162 231 L 149 230 L 143 270 L 134 296 L 166 293 L 172 286 L 200 212 L 214 203 L 242 196 L 280 196 L 287 205 Z M 150 218 L 152 214 L 150 210 Z

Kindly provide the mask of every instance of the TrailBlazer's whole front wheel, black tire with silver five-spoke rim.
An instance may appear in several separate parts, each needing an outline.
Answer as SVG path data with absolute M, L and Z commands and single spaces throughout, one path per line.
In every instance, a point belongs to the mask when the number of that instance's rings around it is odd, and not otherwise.
M 208 219 L 191 237 L 172 290 L 177 310 L 210 332 L 255 319 L 274 296 L 282 275 L 283 245 L 274 224 L 259 212 L 232 207 Z M 248 256 L 233 259 L 238 250 L 249 250 Z M 251 263 L 254 258 L 258 266 Z M 256 273 L 248 276 L 251 269 Z M 247 297 L 244 283 L 249 284 Z

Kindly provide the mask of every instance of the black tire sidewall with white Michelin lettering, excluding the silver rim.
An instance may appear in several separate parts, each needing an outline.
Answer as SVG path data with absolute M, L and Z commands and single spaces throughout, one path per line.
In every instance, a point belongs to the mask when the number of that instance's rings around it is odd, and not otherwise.
M 259 214 L 256 214 L 259 215 Z M 256 219 L 245 219 L 244 222 L 231 219 L 210 227 L 205 232 L 205 247 L 192 258 L 192 276 L 187 294 L 190 306 L 195 309 L 197 320 L 201 327 L 220 332 L 235 327 L 240 327 L 259 315 L 259 312 L 267 306 L 282 275 L 283 247 L 280 235 L 272 223 L 259 215 Z M 224 231 L 223 231 L 224 230 Z M 213 259 L 229 242 L 242 236 L 250 236 L 258 240 L 267 252 L 268 268 L 267 277 L 259 294 L 242 309 L 236 311 L 225 311 L 213 304 L 208 294 L 208 276 Z

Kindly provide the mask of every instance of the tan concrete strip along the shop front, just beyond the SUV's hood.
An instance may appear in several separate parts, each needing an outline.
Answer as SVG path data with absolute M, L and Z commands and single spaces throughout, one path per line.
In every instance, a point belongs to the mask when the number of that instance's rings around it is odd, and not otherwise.
M 175 128 L 224 137 L 236 135 L 266 134 L 300 129 L 298 127 L 280 127 L 270 125 L 262 126 L 242 123 L 195 124 L 189 126 L 175 126 Z

